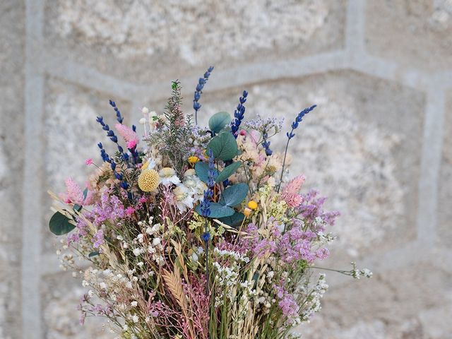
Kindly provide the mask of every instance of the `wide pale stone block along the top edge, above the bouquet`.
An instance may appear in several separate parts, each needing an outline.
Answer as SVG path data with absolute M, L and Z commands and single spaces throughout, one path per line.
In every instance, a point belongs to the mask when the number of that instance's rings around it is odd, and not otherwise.
M 148 83 L 162 76 L 155 73 L 162 66 L 165 77 L 180 76 L 210 64 L 338 49 L 345 1 L 52 0 L 46 16 L 52 47 Z

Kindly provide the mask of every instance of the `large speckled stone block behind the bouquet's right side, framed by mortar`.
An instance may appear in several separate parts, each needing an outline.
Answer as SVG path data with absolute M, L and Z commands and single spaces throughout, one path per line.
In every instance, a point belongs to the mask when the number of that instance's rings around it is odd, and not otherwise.
M 350 256 L 376 253 L 376 244 L 384 251 L 415 238 L 420 139 L 411 136 L 422 133 L 423 95 L 341 72 L 244 88 L 249 90 L 246 119 L 284 117 L 285 131 L 301 109 L 319 105 L 290 145 L 290 175 L 305 174 L 304 191 L 316 188 L 331 197 L 328 208 L 342 213 L 333 232 Z M 206 92 L 200 118 L 220 110 L 232 113 L 240 93 L 242 88 Z M 272 147 L 283 152 L 285 134 L 280 136 Z

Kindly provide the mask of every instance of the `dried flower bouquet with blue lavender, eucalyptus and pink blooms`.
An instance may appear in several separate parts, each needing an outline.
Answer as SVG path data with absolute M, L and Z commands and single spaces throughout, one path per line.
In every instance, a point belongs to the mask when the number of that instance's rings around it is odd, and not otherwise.
M 110 101 L 114 129 L 97 121 L 114 154 L 98 143 L 102 163 L 86 160 L 97 168 L 85 187 L 69 178 L 52 194 L 50 230 L 67 234 L 62 266 L 87 288 L 81 323 L 103 316 L 127 339 L 277 339 L 295 338 L 319 311 L 328 285 L 314 263 L 328 256 L 338 213 L 316 191 L 300 193 L 303 175 L 285 182 L 290 141 L 315 106 L 295 117 L 278 153 L 270 138 L 283 121 L 244 119 L 246 91 L 234 117 L 198 125 L 211 71 L 196 86 L 194 121 L 177 81 L 162 114 L 143 108 L 140 132 Z M 340 272 L 371 275 L 354 264 Z

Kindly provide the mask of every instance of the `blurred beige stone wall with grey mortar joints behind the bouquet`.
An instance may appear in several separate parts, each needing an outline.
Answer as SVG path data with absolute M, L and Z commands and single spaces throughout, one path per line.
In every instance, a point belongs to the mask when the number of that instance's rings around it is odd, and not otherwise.
M 201 117 L 304 119 L 292 174 L 342 216 L 304 338 L 452 338 L 451 0 L 1 0 L 0 338 L 112 338 L 78 325 L 80 280 L 59 270 L 47 189 L 79 182 L 105 141 L 97 115 L 162 112 L 170 81 Z M 274 142 L 283 148 L 283 140 Z M 95 157 L 99 161 L 99 157 Z

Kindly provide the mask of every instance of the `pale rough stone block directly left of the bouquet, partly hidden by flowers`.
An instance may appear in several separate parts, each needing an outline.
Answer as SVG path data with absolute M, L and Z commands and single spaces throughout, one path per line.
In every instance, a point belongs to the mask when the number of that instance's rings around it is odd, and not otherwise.
M 102 142 L 107 153 L 114 154 L 114 144 L 105 136 L 96 117 L 104 117 L 105 123 L 114 129 L 117 122 L 114 110 L 109 105 L 110 97 L 95 90 L 81 88 L 54 78 L 47 79 L 44 104 L 44 133 L 46 138 L 45 186 L 57 194 L 65 191 L 64 180 L 73 177 L 84 185 L 93 169 L 85 165 L 85 160 L 93 158 L 100 165 L 100 150 L 97 143 Z M 114 98 L 112 98 L 114 99 Z M 118 98 L 117 106 L 124 119 L 130 117 L 130 104 Z M 47 206 L 50 198 L 44 192 Z M 47 225 L 52 211 L 46 210 L 44 225 Z M 52 249 L 47 227 L 44 228 L 44 249 Z

